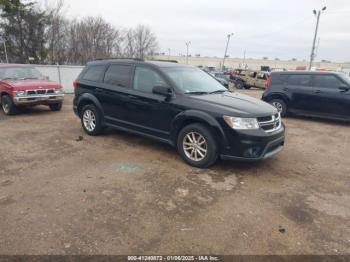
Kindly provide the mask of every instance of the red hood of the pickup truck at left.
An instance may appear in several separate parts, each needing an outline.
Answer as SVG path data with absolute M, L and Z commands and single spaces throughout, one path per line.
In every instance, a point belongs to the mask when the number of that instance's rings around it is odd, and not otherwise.
M 33 90 L 33 89 L 59 89 L 62 86 L 59 83 L 49 80 L 27 79 L 27 80 L 4 80 L 2 81 L 14 90 Z

